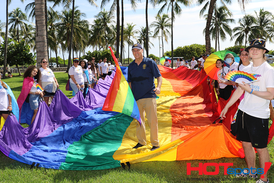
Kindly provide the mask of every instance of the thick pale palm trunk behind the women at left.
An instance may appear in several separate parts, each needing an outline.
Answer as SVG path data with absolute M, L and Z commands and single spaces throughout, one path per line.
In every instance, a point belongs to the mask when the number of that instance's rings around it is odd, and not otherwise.
M 47 36 L 45 25 L 45 0 L 35 0 L 35 44 L 36 44 L 36 63 L 41 66 L 40 60 L 48 60 Z

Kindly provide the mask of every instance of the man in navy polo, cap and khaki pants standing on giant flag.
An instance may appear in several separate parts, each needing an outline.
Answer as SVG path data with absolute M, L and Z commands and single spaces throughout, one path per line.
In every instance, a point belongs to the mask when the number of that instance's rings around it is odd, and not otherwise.
M 156 94 L 160 94 L 162 76 L 157 64 L 149 58 L 143 57 L 143 48 L 137 43 L 132 46 L 132 53 L 135 58 L 128 66 L 128 84 L 132 90 L 137 106 L 139 108 L 142 125 L 137 122 L 136 136 L 138 144 L 133 148 L 137 149 L 146 145 L 145 111 L 150 127 L 151 151 L 158 149 L 158 119 Z M 155 88 L 154 78 L 157 78 Z

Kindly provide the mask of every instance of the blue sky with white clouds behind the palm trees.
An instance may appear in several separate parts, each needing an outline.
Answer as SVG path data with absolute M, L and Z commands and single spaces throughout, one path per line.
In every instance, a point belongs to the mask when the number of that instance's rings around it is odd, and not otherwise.
M 1 0 L 0 2 L 0 20 L 2 22 L 5 22 L 5 8 L 6 8 L 6 1 Z M 17 7 L 21 8 L 22 11 L 24 11 L 25 6 L 33 2 L 32 0 L 25 0 L 24 3 L 22 3 L 20 0 L 12 0 L 12 3 L 9 5 L 9 12 L 11 12 L 13 9 L 16 9 Z M 202 9 L 203 5 L 197 5 L 194 3 L 190 7 L 185 7 L 184 5 L 180 5 L 182 8 L 182 13 L 180 16 L 175 15 L 175 21 L 174 21 L 174 28 L 173 28 L 173 48 L 177 48 L 178 46 L 185 46 L 185 45 L 191 45 L 191 44 L 205 44 L 205 36 L 203 34 L 203 30 L 206 27 L 206 20 L 204 18 L 199 17 L 199 12 Z M 96 16 L 100 12 L 100 5 L 101 1 L 96 1 L 97 5 L 99 7 L 95 7 L 90 5 L 86 0 L 76 0 L 75 5 L 77 5 L 81 12 L 86 13 L 86 20 L 90 22 L 90 24 L 93 24 L 94 16 Z M 52 6 L 52 4 L 47 3 L 48 5 Z M 217 5 L 220 6 L 220 0 L 217 0 Z M 111 4 L 108 4 L 105 9 L 109 10 Z M 152 5 L 149 5 L 148 8 L 148 22 L 149 24 L 155 21 L 156 13 L 159 11 L 162 5 L 158 5 L 155 8 L 152 7 Z M 271 12 L 274 14 L 274 0 L 252 0 L 247 5 L 245 5 L 245 12 L 242 12 L 240 9 L 240 6 L 238 4 L 238 1 L 234 0 L 231 5 L 227 5 L 230 11 L 233 13 L 233 18 L 235 20 L 235 24 L 230 24 L 230 27 L 233 29 L 234 27 L 238 26 L 238 20 L 239 18 L 244 16 L 244 13 L 246 14 L 252 14 L 255 15 L 254 11 L 259 11 L 260 8 L 263 8 L 266 11 Z M 121 5 L 120 5 L 121 8 Z M 54 10 L 62 11 L 63 7 L 56 7 Z M 138 3 L 136 11 L 133 11 L 131 9 L 131 4 L 129 1 L 124 1 L 124 25 L 126 23 L 133 23 L 135 25 L 135 30 L 140 30 L 140 27 L 146 26 L 146 3 L 143 0 L 142 2 Z M 163 11 L 163 13 L 167 13 L 170 17 L 170 12 L 167 12 L 167 9 Z M 28 16 L 29 14 L 27 14 Z M 116 19 L 116 17 L 115 17 Z M 121 15 L 120 15 L 121 20 Z M 30 20 L 31 21 L 31 20 Z M 154 28 L 151 29 L 154 32 Z M 171 30 L 170 30 L 171 32 Z M 159 34 L 160 35 L 160 34 Z M 137 36 L 137 34 L 136 34 Z M 153 39 L 150 40 L 154 47 L 150 49 L 149 53 L 154 54 L 155 56 L 160 56 L 159 53 L 159 39 Z M 137 41 L 134 41 L 137 42 Z M 220 50 L 224 50 L 227 47 L 234 46 L 235 40 L 230 41 L 230 36 L 227 35 L 226 41 L 220 41 Z M 162 45 L 162 41 L 160 41 L 160 44 Z M 128 45 L 125 44 L 125 58 L 128 57 Z M 130 48 L 131 49 L 130 45 Z M 161 46 L 162 47 L 162 46 Z M 215 40 L 211 41 L 211 47 L 215 47 Z M 266 43 L 266 48 L 268 50 L 274 50 L 274 43 Z M 164 52 L 171 51 L 171 38 L 168 39 L 168 42 L 163 43 L 163 49 Z M 86 48 L 87 51 L 93 51 L 93 48 Z M 95 50 L 95 49 L 94 49 Z M 144 51 L 145 52 L 145 51 Z M 161 49 L 162 53 L 162 49 Z M 55 54 L 52 52 L 52 54 L 55 57 Z M 62 56 L 59 56 L 62 58 Z M 145 52 L 146 55 L 146 52 Z M 132 52 L 129 51 L 129 57 L 133 58 Z M 183 57 L 183 56 L 182 56 Z M 68 53 L 65 53 L 65 59 L 68 58 Z

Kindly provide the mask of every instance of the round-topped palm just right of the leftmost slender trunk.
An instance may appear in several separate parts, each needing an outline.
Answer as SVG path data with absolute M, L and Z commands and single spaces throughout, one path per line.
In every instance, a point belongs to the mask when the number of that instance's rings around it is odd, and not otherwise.
M 24 20 L 28 21 L 26 14 L 23 13 L 20 8 L 16 8 L 13 9 L 11 13 L 9 13 L 9 17 L 9 25 L 11 24 L 9 30 L 16 30 L 17 41 L 19 42 L 19 26 L 22 31 L 25 31 L 27 24 L 24 22 Z

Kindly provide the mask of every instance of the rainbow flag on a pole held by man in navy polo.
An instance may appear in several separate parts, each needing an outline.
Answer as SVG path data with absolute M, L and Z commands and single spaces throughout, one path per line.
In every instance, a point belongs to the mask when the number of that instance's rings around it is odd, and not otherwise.
M 111 50 L 111 56 L 116 65 L 116 73 L 102 109 L 105 111 L 124 113 L 138 120 L 141 125 L 141 117 L 133 93 L 125 79 L 125 76 L 122 74 L 117 58 L 115 57 L 111 47 L 109 46 L 108 48 Z

